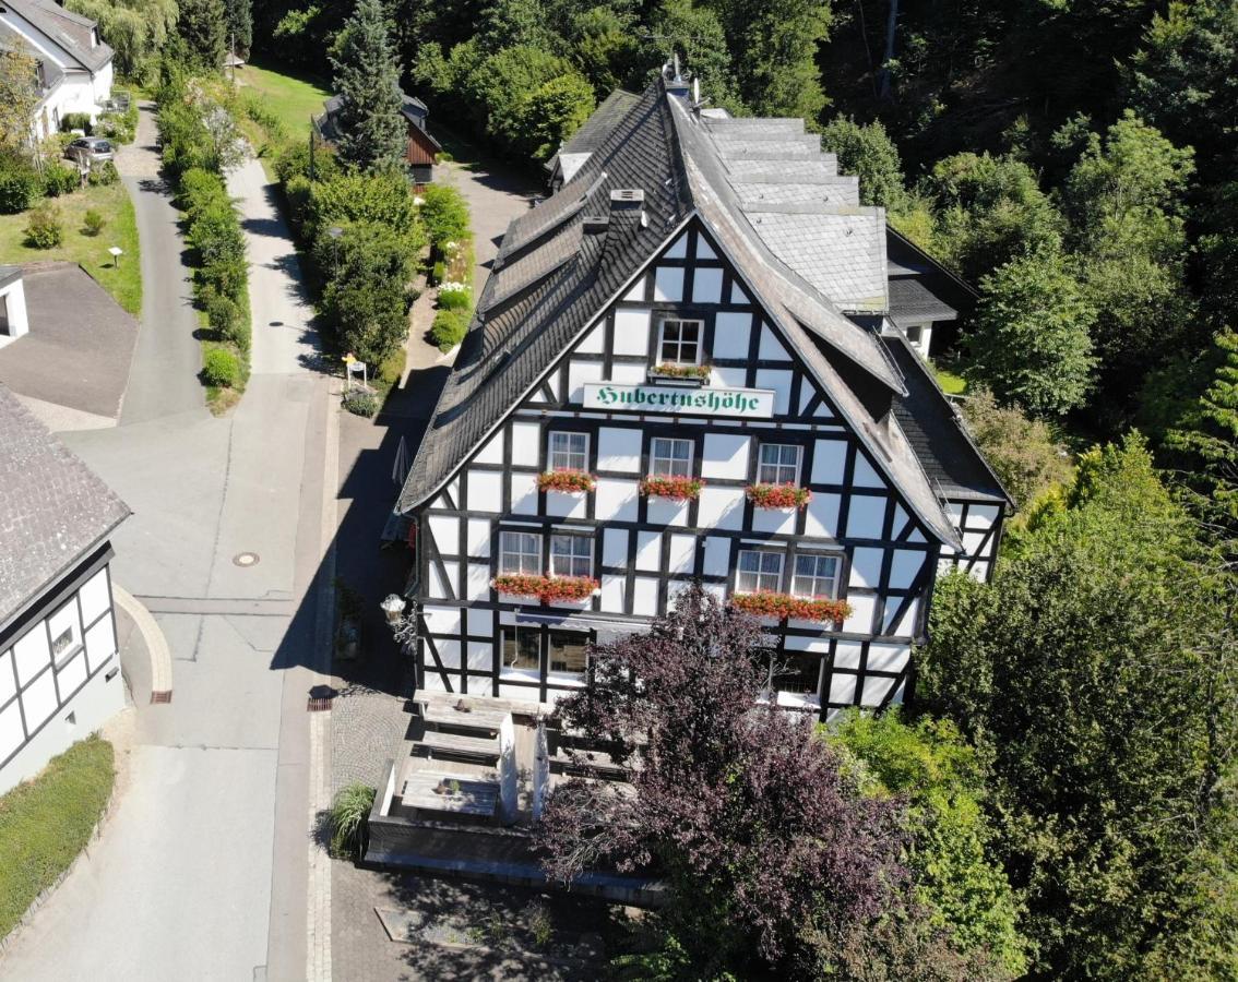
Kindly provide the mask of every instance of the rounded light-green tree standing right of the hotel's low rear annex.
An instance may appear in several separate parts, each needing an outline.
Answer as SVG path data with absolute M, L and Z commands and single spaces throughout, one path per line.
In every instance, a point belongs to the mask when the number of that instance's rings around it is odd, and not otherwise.
M 1096 365 L 1088 334 L 1096 312 L 1062 257 L 1045 250 L 1013 260 L 984 277 L 980 289 L 966 336 L 968 378 L 1032 416 L 1060 416 L 1081 404 Z

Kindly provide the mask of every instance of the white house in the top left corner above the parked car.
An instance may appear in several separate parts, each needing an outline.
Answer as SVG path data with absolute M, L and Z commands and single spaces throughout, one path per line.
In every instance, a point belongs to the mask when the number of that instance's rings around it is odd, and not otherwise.
M 0 0 L 0 47 L 17 43 L 38 62 L 38 139 L 57 132 L 69 113 L 98 119 L 111 98 L 113 51 L 94 21 L 54 0 Z

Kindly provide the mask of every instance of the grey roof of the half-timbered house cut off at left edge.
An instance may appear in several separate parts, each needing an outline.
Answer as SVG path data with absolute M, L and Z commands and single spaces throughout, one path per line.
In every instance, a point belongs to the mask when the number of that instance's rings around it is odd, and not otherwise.
M 129 514 L 125 502 L 0 386 L 0 627 Z

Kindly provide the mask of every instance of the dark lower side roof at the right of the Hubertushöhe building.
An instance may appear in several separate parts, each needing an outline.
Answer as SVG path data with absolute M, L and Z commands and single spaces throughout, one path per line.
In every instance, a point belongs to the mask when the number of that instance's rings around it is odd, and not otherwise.
M 883 336 L 906 381 L 894 413 L 937 491 L 950 498 L 1005 505 L 1009 496 L 976 448 L 953 403 L 906 338 Z

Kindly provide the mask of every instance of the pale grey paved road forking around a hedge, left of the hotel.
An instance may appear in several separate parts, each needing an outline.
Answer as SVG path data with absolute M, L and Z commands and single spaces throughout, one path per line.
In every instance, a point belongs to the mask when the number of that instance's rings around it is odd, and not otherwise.
M 135 512 L 113 540 L 113 574 L 167 637 L 173 698 L 136 707 L 129 790 L 0 961 L 0 977 L 303 980 L 313 843 L 306 699 L 314 654 L 326 649 L 317 587 L 337 407 L 312 367 L 291 242 L 250 161 L 229 188 L 245 216 L 270 220 L 246 229 L 261 318 L 256 371 L 232 414 L 204 409 L 150 124 L 144 113 L 124 168 L 146 281 L 134 377 L 119 427 L 66 443 Z

